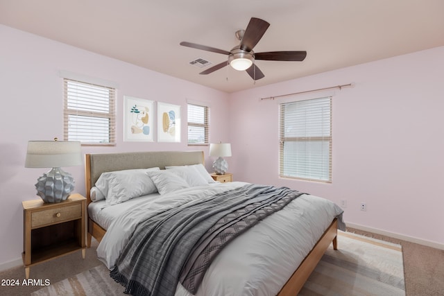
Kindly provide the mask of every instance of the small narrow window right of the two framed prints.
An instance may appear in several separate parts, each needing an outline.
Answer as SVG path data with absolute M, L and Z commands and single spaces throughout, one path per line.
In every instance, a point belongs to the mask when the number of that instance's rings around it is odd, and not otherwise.
M 208 112 L 206 106 L 188 104 L 188 144 L 205 145 L 208 143 Z

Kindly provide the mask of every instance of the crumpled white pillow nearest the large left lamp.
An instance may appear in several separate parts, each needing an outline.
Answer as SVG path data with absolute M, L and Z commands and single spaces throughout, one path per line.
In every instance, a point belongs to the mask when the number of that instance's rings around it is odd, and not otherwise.
M 105 195 L 108 206 L 126 202 L 131 198 L 157 192 L 147 171 L 159 171 L 159 168 L 137 168 L 102 173 L 96 182 L 96 187 Z

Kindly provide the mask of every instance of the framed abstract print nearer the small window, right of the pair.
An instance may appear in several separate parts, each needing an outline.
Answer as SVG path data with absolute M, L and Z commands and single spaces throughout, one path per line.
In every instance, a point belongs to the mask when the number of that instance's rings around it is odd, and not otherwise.
M 180 105 L 157 102 L 157 141 L 180 142 Z

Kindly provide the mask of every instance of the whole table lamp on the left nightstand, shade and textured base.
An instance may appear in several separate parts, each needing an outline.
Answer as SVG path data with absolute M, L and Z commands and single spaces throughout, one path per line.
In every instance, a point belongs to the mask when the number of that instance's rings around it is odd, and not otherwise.
M 35 189 L 44 202 L 62 202 L 74 190 L 74 178 L 60 167 L 82 164 L 80 141 L 28 141 L 26 168 L 52 168 L 37 179 Z

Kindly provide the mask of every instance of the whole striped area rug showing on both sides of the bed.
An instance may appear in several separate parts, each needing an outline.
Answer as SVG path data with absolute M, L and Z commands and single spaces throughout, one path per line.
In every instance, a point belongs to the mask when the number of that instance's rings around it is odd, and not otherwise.
M 125 295 L 104 265 L 35 291 L 40 295 Z M 405 295 L 400 245 L 339 232 L 299 295 Z

